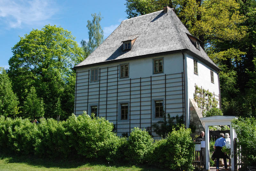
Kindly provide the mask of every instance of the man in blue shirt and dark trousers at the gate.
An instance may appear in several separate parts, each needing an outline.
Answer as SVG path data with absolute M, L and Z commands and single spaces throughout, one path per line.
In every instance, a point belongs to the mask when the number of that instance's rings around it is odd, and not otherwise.
M 225 170 L 228 170 L 227 158 L 225 157 L 225 154 L 221 151 L 223 146 L 226 146 L 226 139 L 224 139 L 224 134 L 220 133 L 220 138 L 218 138 L 214 144 L 214 153 L 216 156 L 216 171 L 219 171 L 220 158 L 223 158 Z

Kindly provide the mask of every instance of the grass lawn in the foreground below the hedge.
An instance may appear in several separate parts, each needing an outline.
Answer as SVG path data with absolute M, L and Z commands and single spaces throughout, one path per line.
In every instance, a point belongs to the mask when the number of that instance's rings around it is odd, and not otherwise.
M 167 171 L 144 165 L 113 165 L 108 162 L 69 160 L 54 161 L 32 157 L 0 154 L 1 171 Z

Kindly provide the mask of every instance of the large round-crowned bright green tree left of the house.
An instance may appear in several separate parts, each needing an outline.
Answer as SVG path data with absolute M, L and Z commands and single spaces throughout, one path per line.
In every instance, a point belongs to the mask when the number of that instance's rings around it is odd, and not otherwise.
M 41 30 L 33 29 L 20 37 L 12 52 L 8 75 L 20 103 L 24 103 L 28 90 L 34 86 L 37 96 L 43 98 L 46 118 L 54 117 L 58 98 L 64 115 L 71 115 L 76 75 L 71 68 L 83 60 L 83 51 L 71 32 L 55 25 L 45 25 Z

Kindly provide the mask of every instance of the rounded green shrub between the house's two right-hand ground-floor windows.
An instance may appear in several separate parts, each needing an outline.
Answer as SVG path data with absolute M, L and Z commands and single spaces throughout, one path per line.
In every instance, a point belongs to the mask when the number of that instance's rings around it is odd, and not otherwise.
M 126 160 L 133 163 L 144 162 L 144 157 L 148 154 L 148 149 L 152 146 L 153 139 L 146 130 L 133 128 L 128 139 L 128 148 L 124 153 Z

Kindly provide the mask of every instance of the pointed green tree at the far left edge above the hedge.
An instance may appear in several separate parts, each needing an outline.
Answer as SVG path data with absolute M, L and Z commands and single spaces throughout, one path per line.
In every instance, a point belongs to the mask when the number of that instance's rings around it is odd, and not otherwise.
M 0 115 L 15 117 L 18 114 L 18 98 L 12 91 L 12 82 L 4 68 L 0 67 Z

